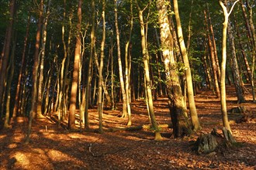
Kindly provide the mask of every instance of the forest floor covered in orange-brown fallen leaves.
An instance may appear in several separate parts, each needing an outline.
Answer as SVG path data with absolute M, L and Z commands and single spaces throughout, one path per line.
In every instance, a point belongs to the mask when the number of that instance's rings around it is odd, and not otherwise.
M 126 119 L 119 117 L 119 107 L 104 110 L 103 134 L 67 131 L 48 117 L 33 122 L 31 140 L 24 145 L 27 121 L 18 117 L 12 121 L 12 128 L 0 130 L 0 169 L 256 169 L 256 104 L 250 93 L 246 99 L 247 103 L 237 104 L 234 88 L 227 87 L 227 110 L 244 106 L 254 117 L 238 123 L 242 114 L 230 114 L 230 126 L 239 145 L 209 155 L 192 151 L 200 134 L 222 129 L 220 100 L 209 90 L 195 95 L 202 130 L 182 139 L 173 138 L 171 128 L 161 128 L 162 141 L 154 141 L 154 132 L 147 128 L 121 130 L 126 128 Z M 171 123 L 167 98 L 155 100 L 154 111 L 158 124 Z M 96 130 L 96 108 L 89 114 L 90 127 Z M 149 124 L 144 100 L 133 102 L 132 121 L 133 126 Z

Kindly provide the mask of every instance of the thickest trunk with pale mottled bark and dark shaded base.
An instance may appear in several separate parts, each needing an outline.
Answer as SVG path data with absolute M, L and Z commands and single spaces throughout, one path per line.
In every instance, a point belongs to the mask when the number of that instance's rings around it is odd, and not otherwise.
M 177 73 L 177 63 L 174 57 L 174 41 L 171 35 L 168 20 L 168 5 L 166 0 L 157 0 L 158 22 L 161 35 L 161 50 L 164 57 L 164 67 L 167 79 L 167 90 L 173 134 L 175 138 L 190 133 L 189 121 L 187 120 L 185 101 Z

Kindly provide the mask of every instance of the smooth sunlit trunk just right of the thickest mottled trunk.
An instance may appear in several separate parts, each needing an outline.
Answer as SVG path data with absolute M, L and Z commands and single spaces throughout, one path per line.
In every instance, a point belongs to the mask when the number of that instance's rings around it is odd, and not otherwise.
M 188 99 L 189 99 L 189 110 L 191 114 L 191 121 L 192 121 L 192 130 L 198 131 L 201 129 L 200 123 L 199 123 L 199 117 L 197 115 L 196 107 L 195 107 L 195 99 L 194 99 L 194 93 L 193 93 L 193 83 L 192 83 L 192 74 L 189 66 L 189 57 L 187 55 L 187 51 L 185 48 L 185 42 L 183 39 L 183 33 L 182 33 L 182 24 L 179 17 L 178 12 L 178 1 L 174 0 L 174 8 L 175 8 L 175 18 L 177 23 L 177 29 L 178 29 L 178 42 L 180 44 L 181 50 L 182 50 L 182 57 L 185 65 L 185 77 L 186 77 L 186 85 L 188 89 Z

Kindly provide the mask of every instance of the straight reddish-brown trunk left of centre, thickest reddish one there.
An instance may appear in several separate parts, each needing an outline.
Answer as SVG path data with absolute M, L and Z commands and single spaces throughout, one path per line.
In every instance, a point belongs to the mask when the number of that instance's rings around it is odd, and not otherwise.
M 78 72 L 79 72 L 79 60 L 81 57 L 81 4 L 82 0 L 78 2 L 78 25 L 77 25 L 77 35 L 76 35 L 76 44 L 74 50 L 74 69 L 73 69 L 73 78 L 71 86 L 71 102 L 69 106 L 69 117 L 68 117 L 68 128 L 75 128 L 75 110 L 77 102 L 77 93 L 78 93 Z

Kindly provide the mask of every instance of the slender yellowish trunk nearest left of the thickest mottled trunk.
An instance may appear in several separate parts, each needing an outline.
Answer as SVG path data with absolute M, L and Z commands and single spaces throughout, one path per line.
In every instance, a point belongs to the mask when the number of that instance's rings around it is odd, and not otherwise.
M 151 84 L 150 84 L 150 66 L 149 66 L 149 56 L 147 53 L 147 40 L 145 36 L 145 27 L 144 27 L 144 18 L 143 18 L 143 10 L 140 9 L 140 6 L 136 0 L 137 8 L 139 9 L 139 19 L 140 19 L 140 35 L 141 35 L 141 48 L 142 48 L 142 55 L 144 61 L 144 73 L 145 73 L 145 93 L 147 95 L 147 107 L 148 113 L 150 115 L 150 121 L 154 128 L 155 140 L 161 140 L 161 133 L 160 129 L 157 125 L 157 120 L 154 115 L 154 107 L 153 107 L 153 98 L 151 92 Z

